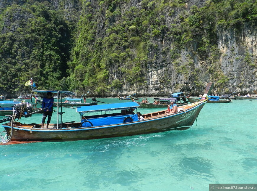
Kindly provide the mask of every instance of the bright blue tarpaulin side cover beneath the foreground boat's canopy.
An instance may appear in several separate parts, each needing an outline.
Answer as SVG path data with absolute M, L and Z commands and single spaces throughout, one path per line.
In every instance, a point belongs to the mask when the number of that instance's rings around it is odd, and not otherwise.
M 93 126 L 113 125 L 113 124 L 123 123 L 126 117 L 131 117 L 133 121 L 138 121 L 137 114 L 92 118 L 92 119 L 88 119 L 88 121 L 90 121 Z M 87 119 L 82 119 L 81 123 L 83 121 L 87 121 Z M 92 125 L 90 123 L 85 122 L 82 124 L 82 127 L 91 127 Z

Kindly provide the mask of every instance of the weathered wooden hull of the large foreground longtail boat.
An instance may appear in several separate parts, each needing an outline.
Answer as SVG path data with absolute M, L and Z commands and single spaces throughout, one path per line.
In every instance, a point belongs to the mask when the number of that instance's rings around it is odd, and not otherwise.
M 80 127 L 80 123 L 65 123 L 66 128 L 63 129 L 38 129 L 33 127 L 35 123 L 16 122 L 11 141 L 74 141 L 184 130 L 193 125 L 204 104 L 205 102 L 199 102 L 185 105 L 184 110 L 171 115 L 164 115 L 165 110 L 163 110 L 144 115 L 145 120 L 142 121 L 105 126 Z M 3 127 L 9 136 L 11 123 L 5 123 Z

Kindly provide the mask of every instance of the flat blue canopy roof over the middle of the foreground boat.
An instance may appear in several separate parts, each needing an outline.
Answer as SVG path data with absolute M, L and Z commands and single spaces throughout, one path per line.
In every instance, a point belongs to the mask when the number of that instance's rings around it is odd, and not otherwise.
M 88 106 L 77 107 L 77 112 L 86 113 L 86 112 L 99 112 L 99 111 L 127 110 L 132 107 L 139 107 L 139 106 L 140 105 L 136 102 L 88 105 Z

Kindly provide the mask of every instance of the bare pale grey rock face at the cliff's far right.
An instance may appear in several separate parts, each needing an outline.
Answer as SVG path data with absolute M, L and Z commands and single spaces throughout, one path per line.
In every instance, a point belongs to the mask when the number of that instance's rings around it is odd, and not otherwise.
M 256 29 L 245 24 L 240 33 L 218 28 L 217 34 L 221 69 L 229 77 L 229 90 L 253 92 L 257 89 Z

